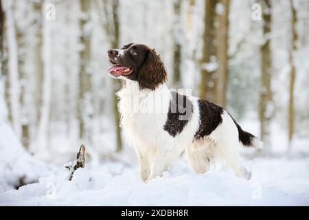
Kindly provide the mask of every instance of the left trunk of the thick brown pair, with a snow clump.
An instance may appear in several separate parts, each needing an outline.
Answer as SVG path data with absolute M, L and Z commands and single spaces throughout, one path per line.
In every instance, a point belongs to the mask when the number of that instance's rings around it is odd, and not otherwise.
M 205 0 L 203 56 L 201 59 L 200 97 L 214 101 L 216 87 L 215 27 L 216 0 Z

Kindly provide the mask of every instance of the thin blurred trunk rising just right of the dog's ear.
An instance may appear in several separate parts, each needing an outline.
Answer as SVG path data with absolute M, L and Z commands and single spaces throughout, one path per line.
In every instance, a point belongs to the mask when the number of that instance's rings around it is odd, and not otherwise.
M 177 87 L 181 84 L 181 0 L 174 1 L 174 22 L 173 22 L 173 43 L 174 43 L 174 64 L 173 84 Z

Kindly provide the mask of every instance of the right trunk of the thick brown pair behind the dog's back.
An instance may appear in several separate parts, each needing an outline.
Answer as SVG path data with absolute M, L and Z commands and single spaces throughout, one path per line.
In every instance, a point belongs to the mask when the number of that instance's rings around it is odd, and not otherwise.
M 217 45 L 217 58 L 218 69 L 216 72 L 216 99 L 215 102 L 225 107 L 227 104 L 227 79 L 228 79 L 228 56 L 229 49 L 229 0 L 219 1 L 224 11 L 217 15 L 218 27 L 216 32 L 216 38 L 218 39 Z

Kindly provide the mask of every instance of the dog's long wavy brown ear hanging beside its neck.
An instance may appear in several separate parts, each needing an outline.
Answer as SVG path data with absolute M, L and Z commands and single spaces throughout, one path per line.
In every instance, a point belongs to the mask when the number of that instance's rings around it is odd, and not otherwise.
M 144 62 L 139 68 L 137 82 L 140 89 L 155 90 L 167 80 L 167 73 L 163 62 L 155 50 L 149 49 Z

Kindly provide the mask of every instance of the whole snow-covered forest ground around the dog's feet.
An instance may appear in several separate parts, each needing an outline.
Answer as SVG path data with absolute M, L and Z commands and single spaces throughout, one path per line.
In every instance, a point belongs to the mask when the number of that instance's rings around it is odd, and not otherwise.
M 0 206 L 309 206 L 308 140 L 295 142 L 290 157 L 256 157 L 244 149 L 249 180 L 220 166 L 196 175 L 182 158 L 144 184 L 130 148 L 103 163 L 87 162 L 69 181 L 64 165 L 47 166 L 28 154 L 6 123 L 0 133 L 6 155 L 0 161 Z M 12 189 L 23 175 L 38 181 Z

